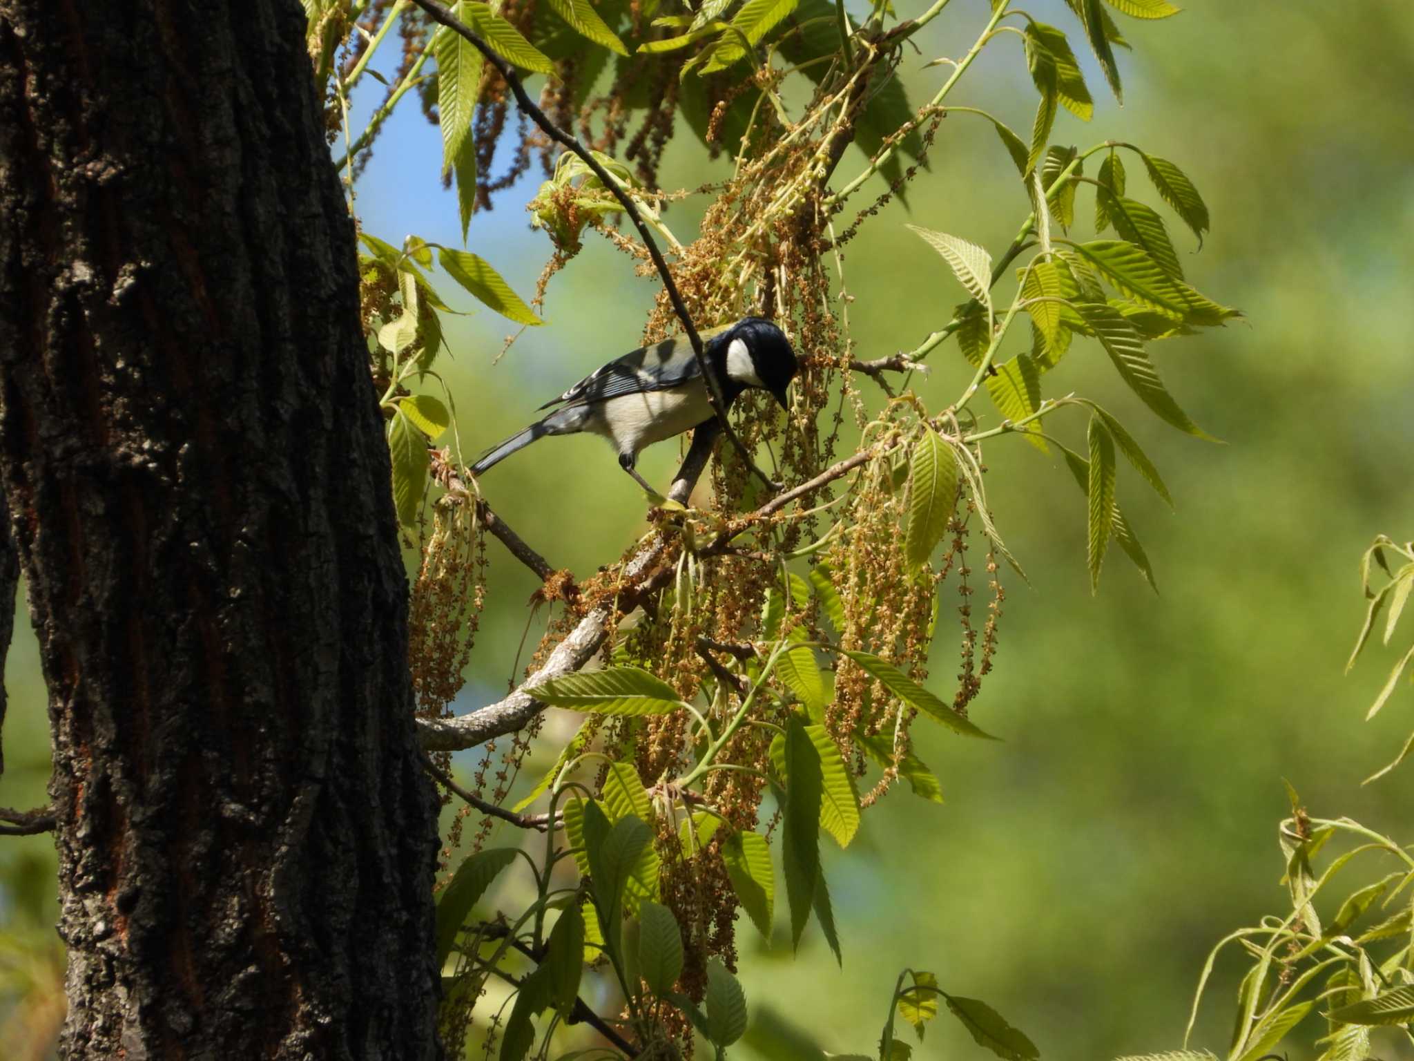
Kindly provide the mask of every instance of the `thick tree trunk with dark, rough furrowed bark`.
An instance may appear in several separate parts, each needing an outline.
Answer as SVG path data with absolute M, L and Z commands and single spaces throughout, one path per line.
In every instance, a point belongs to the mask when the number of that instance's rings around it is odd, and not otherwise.
M 71 1058 L 437 1053 L 436 804 L 296 0 L 0 0 L 0 488 Z

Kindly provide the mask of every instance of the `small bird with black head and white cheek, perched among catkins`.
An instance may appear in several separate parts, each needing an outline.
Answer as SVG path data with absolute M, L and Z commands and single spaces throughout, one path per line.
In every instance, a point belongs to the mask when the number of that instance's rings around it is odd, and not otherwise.
M 759 388 L 789 409 L 786 388 L 797 365 L 781 328 L 761 317 L 742 317 L 732 325 L 701 332 L 701 338 L 728 406 L 747 388 Z M 607 439 L 618 453 L 619 467 L 653 492 L 633 470 L 638 454 L 713 419 L 707 385 L 686 335 L 611 361 L 540 407 L 550 406 L 560 407 L 488 450 L 471 471 L 479 475 L 546 434 L 591 431 Z

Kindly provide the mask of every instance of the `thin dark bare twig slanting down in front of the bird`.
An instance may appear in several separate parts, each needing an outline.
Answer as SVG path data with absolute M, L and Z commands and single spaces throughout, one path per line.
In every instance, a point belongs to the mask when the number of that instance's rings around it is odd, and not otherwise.
M 604 168 L 598 158 L 584 147 L 571 133 L 560 129 L 549 116 L 536 106 L 534 100 L 526 92 L 525 85 L 520 83 L 520 76 L 516 74 L 515 68 L 506 62 L 501 55 L 492 51 L 491 45 L 486 44 L 481 37 L 467 28 L 467 25 L 457 18 L 447 7 L 437 3 L 437 0 L 413 0 L 427 16 L 436 21 L 445 25 L 448 30 L 455 33 L 458 37 L 471 44 L 477 51 L 486 57 L 486 62 L 496 68 L 496 72 L 505 79 L 506 85 L 510 86 L 512 95 L 516 98 L 516 106 L 523 115 L 526 115 L 532 122 L 540 126 L 540 130 L 549 136 L 556 143 L 574 151 L 590 171 L 600 178 L 600 182 L 619 201 L 624 211 L 628 214 L 629 221 L 633 222 L 633 228 L 638 229 L 639 238 L 643 240 L 643 246 L 648 248 L 649 257 L 653 259 L 653 267 L 658 269 L 658 274 L 663 280 L 663 289 L 667 291 L 667 298 L 673 304 L 673 313 L 677 314 L 677 320 L 683 324 L 683 331 L 687 332 L 687 341 L 693 344 L 693 354 L 697 356 L 697 369 L 703 375 L 703 381 L 707 383 L 707 398 L 711 402 L 713 412 L 717 414 L 717 420 L 727 437 L 731 439 L 732 446 L 741 451 L 741 458 L 747 463 L 747 467 L 761 478 L 771 489 L 781 489 L 781 484 L 771 480 L 761 468 L 756 467 L 755 461 L 751 460 L 751 453 L 747 451 L 745 443 L 732 430 L 731 423 L 727 420 L 727 398 L 721 390 L 721 381 L 711 371 L 711 365 L 707 362 L 707 351 L 703 348 L 701 335 L 697 334 L 697 327 L 693 324 L 691 314 L 687 313 L 687 304 L 683 301 L 682 293 L 677 290 L 677 283 L 673 280 L 672 272 L 667 269 L 667 262 L 663 257 L 663 252 L 658 249 L 658 242 L 653 239 L 652 233 L 648 231 L 648 225 L 643 221 L 643 215 L 639 214 L 633 198 L 624 191 L 619 182 L 609 175 L 609 171 Z

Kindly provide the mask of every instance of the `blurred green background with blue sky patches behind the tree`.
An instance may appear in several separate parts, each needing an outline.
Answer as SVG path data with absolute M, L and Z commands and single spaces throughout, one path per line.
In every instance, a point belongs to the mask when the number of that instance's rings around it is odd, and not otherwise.
M 1027 7 L 1066 18 L 1062 0 Z M 1059 457 L 1021 439 L 991 447 L 997 522 L 1032 579 L 1031 587 L 1008 581 L 997 673 L 973 707 L 1005 743 L 919 729 L 919 754 L 939 774 L 946 804 L 895 789 L 867 815 L 848 853 L 827 853 L 843 970 L 817 934 L 795 961 L 783 944 L 766 952 L 742 934 L 754 1016 L 745 1043 L 761 1057 L 817 1057 L 812 1041 L 870 1050 L 905 965 L 986 997 L 1044 1057 L 1171 1048 L 1209 948 L 1282 908 L 1281 778 L 1314 813 L 1350 815 L 1408 839 L 1414 768 L 1366 788 L 1359 781 L 1404 740 L 1414 695 L 1401 688 L 1365 726 L 1360 714 L 1393 659 L 1372 647 L 1376 662 L 1342 678 L 1363 614 L 1356 559 L 1376 532 L 1404 539 L 1414 526 L 1408 0 L 1193 0 L 1178 18 L 1124 28 L 1135 45 L 1134 57 L 1120 54 L 1126 106 L 1097 93 L 1093 126 L 1062 115 L 1055 139 L 1141 141 L 1178 160 L 1203 192 L 1213 231 L 1202 252 L 1176 228 L 1175 243 L 1191 279 L 1241 307 L 1247 321 L 1161 344 L 1155 359 L 1184 407 L 1227 444 L 1181 437 L 1147 416 L 1093 344 L 1060 369 L 1126 420 L 1175 495 L 1171 514 L 1128 468 L 1120 471 L 1158 597 L 1117 562 L 1092 597 L 1085 498 Z M 922 58 L 956 54 L 969 31 L 939 20 L 921 35 Z M 1099 85 L 1090 57 L 1082 64 Z M 936 74 L 921 65 L 904 65 L 915 98 Z M 956 102 L 1027 127 L 1034 91 L 1015 57 L 984 55 L 971 95 Z M 372 232 L 440 233 L 452 243 L 454 195 L 423 194 L 431 190 L 419 182 L 430 182 L 436 167 L 420 161 L 414 174 L 402 161 L 437 157 L 436 129 L 419 122 L 413 113 L 393 119 L 361 184 L 359 209 Z M 680 137 L 665 157 L 663 185 L 697 187 L 721 164 Z M 916 345 L 957 301 L 905 221 L 997 246 L 1025 215 L 1019 188 L 998 192 L 1015 177 L 984 123 L 947 119 L 932 164 L 912 187 L 909 211 L 888 207 L 848 246 L 861 356 Z M 527 290 L 547 245 L 523 231 L 515 201 L 508 194 L 474 219 L 472 233 L 481 226 L 498 267 Z M 669 214 L 679 235 L 691 232 L 696 208 L 689 199 Z M 652 283 L 590 242 L 550 289 L 549 327 L 520 338 L 496 368 L 505 321 L 482 313 L 448 324 L 455 359 L 444 368 L 462 439 L 477 447 L 520 427 L 546 395 L 635 345 Z M 916 385 L 940 405 L 966 372 L 949 345 Z M 512 526 L 577 574 L 617 556 L 643 528 L 639 492 L 601 447 L 554 439 L 484 482 Z M 666 481 L 676 456 L 665 444 L 639 467 Z M 461 710 L 493 699 L 513 676 L 523 601 L 534 589 L 498 549 Z M 533 634 L 543 621 L 532 618 Z M 44 802 L 47 770 L 44 688 L 23 618 L 17 631 L 6 666 L 0 805 L 34 806 Z M 953 659 L 940 635 L 940 680 Z M 526 772 L 536 775 L 547 754 Z M 0 840 L 0 929 L 52 938 L 44 928 L 57 914 L 52 873 L 47 837 Z M 1232 1010 L 1219 1000 L 1233 999 L 1237 969 L 1219 965 L 1196 1045 L 1225 1045 Z M 1314 1055 L 1288 1045 L 1292 1058 Z M 939 1026 L 918 1055 L 978 1054 L 966 1031 Z

